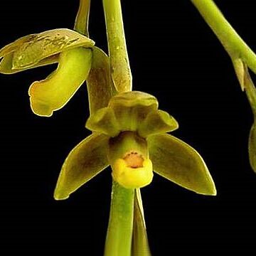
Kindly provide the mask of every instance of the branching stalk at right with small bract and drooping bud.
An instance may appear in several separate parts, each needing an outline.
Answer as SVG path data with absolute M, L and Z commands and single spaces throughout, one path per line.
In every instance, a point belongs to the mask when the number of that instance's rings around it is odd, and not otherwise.
M 253 73 L 256 73 L 256 54 L 240 38 L 212 0 L 191 0 L 191 2 L 230 55 L 241 89 L 246 92 L 254 116 L 254 123 L 249 135 L 249 158 L 250 165 L 256 172 L 256 89 L 248 72 L 248 68 L 250 68 Z

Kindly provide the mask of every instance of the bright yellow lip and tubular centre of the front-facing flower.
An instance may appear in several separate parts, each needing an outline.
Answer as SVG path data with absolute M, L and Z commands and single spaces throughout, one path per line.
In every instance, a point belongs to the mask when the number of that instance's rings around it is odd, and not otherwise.
M 108 159 L 112 177 L 124 188 L 142 188 L 153 178 L 146 140 L 136 132 L 121 132 L 110 138 Z

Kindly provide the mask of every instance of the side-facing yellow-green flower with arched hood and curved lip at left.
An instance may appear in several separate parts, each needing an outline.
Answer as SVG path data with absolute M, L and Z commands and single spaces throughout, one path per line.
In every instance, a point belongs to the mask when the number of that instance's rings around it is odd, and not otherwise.
M 13 74 L 58 63 L 53 73 L 45 80 L 33 82 L 28 90 L 33 112 L 49 117 L 63 107 L 86 80 L 93 46 L 90 38 L 66 28 L 24 36 L 1 48 L 0 73 Z

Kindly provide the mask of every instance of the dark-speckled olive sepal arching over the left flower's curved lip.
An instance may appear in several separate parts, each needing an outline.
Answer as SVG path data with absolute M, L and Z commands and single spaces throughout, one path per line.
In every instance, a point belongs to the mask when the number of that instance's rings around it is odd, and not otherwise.
M 92 48 L 94 42 L 67 28 L 53 29 L 19 38 L 0 50 L 0 58 L 9 58 L 9 63 L 11 58 L 11 68 L 18 72 L 36 68 L 44 59 L 80 46 Z

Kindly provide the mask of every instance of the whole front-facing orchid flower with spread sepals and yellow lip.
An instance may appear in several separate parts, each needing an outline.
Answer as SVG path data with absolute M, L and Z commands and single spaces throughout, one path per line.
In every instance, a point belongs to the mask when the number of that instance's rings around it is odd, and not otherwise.
M 144 92 L 122 92 L 107 107 L 93 113 L 86 124 L 92 135 L 70 152 L 60 171 L 55 199 L 71 193 L 100 171 L 112 166 L 114 181 L 124 188 L 151 183 L 153 171 L 196 193 L 215 195 L 205 162 L 185 142 L 166 134 L 178 128 L 158 102 Z

